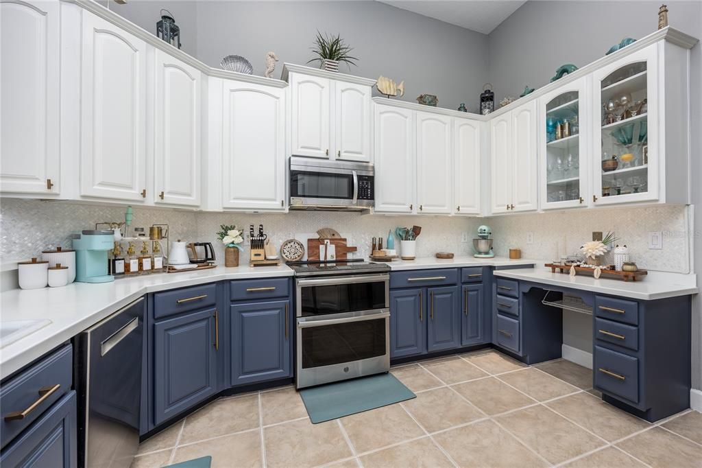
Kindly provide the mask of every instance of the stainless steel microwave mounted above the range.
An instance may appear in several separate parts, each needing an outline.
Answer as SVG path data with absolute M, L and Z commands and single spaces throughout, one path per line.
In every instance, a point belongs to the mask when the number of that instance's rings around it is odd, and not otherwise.
M 361 211 L 373 207 L 373 164 L 290 157 L 290 209 Z

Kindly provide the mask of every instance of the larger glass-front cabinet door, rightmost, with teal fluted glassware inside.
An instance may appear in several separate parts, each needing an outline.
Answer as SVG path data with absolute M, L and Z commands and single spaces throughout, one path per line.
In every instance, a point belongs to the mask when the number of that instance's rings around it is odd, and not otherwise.
M 658 200 L 656 46 L 595 72 L 592 203 Z M 650 150 L 649 150 L 650 148 Z

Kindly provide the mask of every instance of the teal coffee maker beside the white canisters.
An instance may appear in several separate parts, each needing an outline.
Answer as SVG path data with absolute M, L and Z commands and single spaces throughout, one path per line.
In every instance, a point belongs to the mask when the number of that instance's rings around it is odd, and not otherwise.
M 114 232 L 112 230 L 84 230 L 80 234 L 74 234 L 76 281 L 114 281 L 114 276 L 107 274 L 107 252 L 113 247 Z

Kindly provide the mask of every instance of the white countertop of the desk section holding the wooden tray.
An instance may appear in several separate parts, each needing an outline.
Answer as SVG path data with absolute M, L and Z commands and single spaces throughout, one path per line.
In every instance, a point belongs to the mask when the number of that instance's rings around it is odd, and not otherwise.
M 695 275 L 680 275 L 677 273 L 649 272 L 647 278 L 637 281 L 623 281 L 611 278 L 596 280 L 591 276 L 566 273 L 551 273 L 550 268 L 537 263 L 535 268 L 515 268 L 513 270 L 495 271 L 494 275 L 514 280 L 538 282 L 544 285 L 570 287 L 574 290 L 585 290 L 611 294 L 613 296 L 630 297 L 649 301 L 665 299 L 666 297 L 686 296 L 696 294 Z

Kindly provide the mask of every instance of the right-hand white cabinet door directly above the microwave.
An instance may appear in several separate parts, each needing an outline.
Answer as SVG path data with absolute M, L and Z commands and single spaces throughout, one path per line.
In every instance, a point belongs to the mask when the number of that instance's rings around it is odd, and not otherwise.
M 336 158 L 371 162 L 371 89 L 336 82 Z

